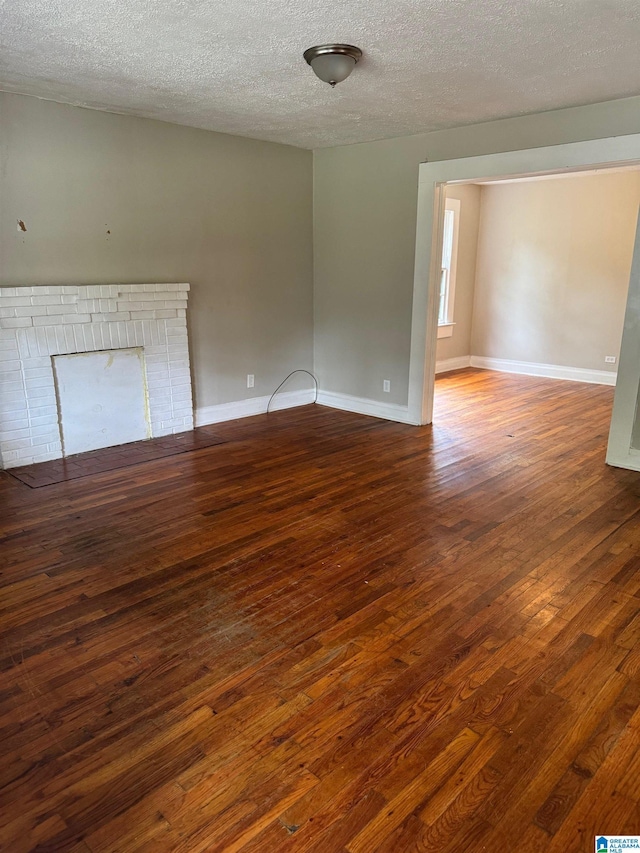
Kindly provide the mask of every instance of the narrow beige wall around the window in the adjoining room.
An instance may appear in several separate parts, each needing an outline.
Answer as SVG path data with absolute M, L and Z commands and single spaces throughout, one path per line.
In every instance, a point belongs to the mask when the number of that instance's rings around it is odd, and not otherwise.
M 450 338 L 438 340 L 436 356 L 438 361 L 471 355 L 471 325 L 473 321 L 473 293 L 476 279 L 481 192 L 481 187 L 475 184 L 455 184 L 446 188 L 447 198 L 455 198 L 460 202 L 460 218 L 458 221 L 456 290 L 453 305 L 455 325 Z

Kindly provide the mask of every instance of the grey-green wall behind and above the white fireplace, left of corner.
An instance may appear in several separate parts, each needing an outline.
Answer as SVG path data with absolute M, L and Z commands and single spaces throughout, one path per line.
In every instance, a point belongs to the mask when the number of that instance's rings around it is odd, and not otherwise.
M 0 158 L 1 284 L 190 282 L 198 407 L 311 369 L 309 151 L 0 93 Z

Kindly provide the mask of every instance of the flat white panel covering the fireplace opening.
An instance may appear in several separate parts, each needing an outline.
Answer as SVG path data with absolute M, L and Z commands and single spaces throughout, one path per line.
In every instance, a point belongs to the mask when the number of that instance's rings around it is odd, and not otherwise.
M 143 352 L 53 356 L 65 456 L 151 437 Z

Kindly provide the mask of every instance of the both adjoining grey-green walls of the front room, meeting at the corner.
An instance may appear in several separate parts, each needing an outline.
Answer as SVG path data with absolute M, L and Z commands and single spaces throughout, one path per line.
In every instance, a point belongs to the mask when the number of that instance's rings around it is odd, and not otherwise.
M 638 132 L 630 98 L 321 149 L 312 169 L 300 149 L 0 94 L 0 282 L 190 282 L 199 408 L 312 363 L 326 391 L 406 405 L 419 163 Z

